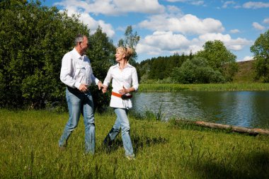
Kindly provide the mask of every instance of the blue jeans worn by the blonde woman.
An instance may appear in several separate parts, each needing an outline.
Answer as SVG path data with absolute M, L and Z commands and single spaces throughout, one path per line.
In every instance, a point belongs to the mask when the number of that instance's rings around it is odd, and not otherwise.
M 115 125 L 109 132 L 110 140 L 113 141 L 120 133 L 120 128 L 122 130 L 122 143 L 125 149 L 125 156 L 134 156 L 134 149 L 132 148 L 132 141 L 130 138 L 130 122 L 128 120 L 127 114 L 128 110 L 124 108 L 114 108 L 117 115 Z

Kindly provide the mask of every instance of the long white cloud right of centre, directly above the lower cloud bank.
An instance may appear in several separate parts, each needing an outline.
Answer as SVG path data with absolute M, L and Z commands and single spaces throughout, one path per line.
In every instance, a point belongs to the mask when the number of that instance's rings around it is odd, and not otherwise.
M 191 14 L 173 17 L 168 14 L 151 16 L 149 20 L 139 23 L 139 27 L 183 34 L 221 33 L 224 31 L 220 21 L 214 18 L 200 19 Z

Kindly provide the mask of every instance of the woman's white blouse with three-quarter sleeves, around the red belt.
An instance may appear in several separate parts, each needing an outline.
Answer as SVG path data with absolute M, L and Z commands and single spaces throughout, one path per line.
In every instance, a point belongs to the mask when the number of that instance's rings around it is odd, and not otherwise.
M 105 77 L 103 84 L 109 86 L 110 81 L 112 80 L 112 91 L 119 93 L 123 88 L 135 88 L 135 91 L 138 90 L 138 78 L 137 78 L 137 69 L 132 67 L 132 65 L 127 64 L 122 71 L 120 70 L 120 65 L 116 64 L 108 70 L 108 74 Z M 110 106 L 113 108 L 132 108 L 132 100 L 126 99 L 122 100 L 117 96 L 111 96 Z

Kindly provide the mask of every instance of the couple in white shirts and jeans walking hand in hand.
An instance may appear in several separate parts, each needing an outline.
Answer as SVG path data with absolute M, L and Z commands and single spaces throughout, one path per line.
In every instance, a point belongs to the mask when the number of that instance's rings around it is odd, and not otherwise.
M 115 66 L 110 67 L 103 83 L 99 81 L 91 69 L 91 63 L 85 52 L 88 49 L 88 37 L 78 35 L 75 39 L 75 47 L 72 51 L 64 54 L 60 79 L 67 85 L 66 97 L 69 110 L 69 120 L 64 128 L 62 137 L 59 139 L 59 147 L 67 146 L 67 140 L 71 132 L 79 122 L 79 116 L 84 116 L 85 125 L 85 148 L 86 153 L 94 154 L 95 151 L 95 125 L 93 116 L 93 98 L 88 86 L 95 84 L 103 93 L 108 89 L 112 80 L 112 95 L 110 107 L 115 110 L 117 119 L 115 125 L 105 137 L 103 144 L 110 146 L 122 130 L 122 142 L 125 149 L 125 156 L 128 159 L 135 158 L 130 139 L 130 123 L 127 117 L 129 108 L 132 108 L 132 97 L 130 93 L 137 91 L 138 79 L 135 67 L 128 64 L 133 51 L 130 48 L 118 47 L 116 50 Z M 125 98 L 121 98 L 125 96 Z

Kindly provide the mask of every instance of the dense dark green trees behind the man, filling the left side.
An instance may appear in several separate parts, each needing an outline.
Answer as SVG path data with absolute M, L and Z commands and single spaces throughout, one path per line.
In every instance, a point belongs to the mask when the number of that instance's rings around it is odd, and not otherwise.
M 0 6 L 0 107 L 66 103 L 59 81 L 62 57 L 74 47 L 77 34 L 89 35 L 90 30 L 78 16 L 41 6 L 40 1 L 6 0 Z M 98 49 L 90 54 L 93 74 L 103 79 L 113 45 L 100 29 L 90 39 Z

